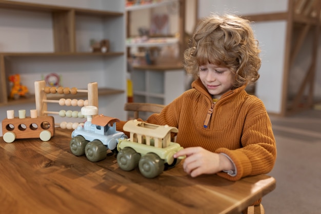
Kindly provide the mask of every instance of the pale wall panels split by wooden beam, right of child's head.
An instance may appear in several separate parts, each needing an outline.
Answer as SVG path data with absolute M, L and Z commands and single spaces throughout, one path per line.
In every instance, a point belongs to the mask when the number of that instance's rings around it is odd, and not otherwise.
M 287 11 L 287 0 L 199 0 L 198 16 L 211 13 L 260 14 Z M 260 22 L 252 24 L 254 34 L 262 50 L 260 79 L 256 84 L 256 95 L 270 113 L 281 112 L 284 47 L 286 22 Z

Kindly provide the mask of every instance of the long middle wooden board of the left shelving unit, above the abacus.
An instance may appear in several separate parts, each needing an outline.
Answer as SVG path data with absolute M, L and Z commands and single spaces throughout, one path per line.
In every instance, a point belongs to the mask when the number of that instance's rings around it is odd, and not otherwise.
M 5 52 L 0 53 L 5 57 L 7 56 L 116 56 L 116 55 L 124 55 L 124 52 Z

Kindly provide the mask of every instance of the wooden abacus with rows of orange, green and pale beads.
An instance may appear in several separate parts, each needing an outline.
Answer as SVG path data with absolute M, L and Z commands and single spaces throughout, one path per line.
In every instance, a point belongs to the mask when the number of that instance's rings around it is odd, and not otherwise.
M 60 111 L 48 111 L 48 103 L 57 103 L 60 106 L 96 106 L 98 108 L 98 84 L 88 83 L 87 89 L 77 89 L 75 87 L 49 87 L 46 86 L 45 81 L 34 82 L 35 89 L 35 103 L 38 115 L 48 115 L 57 114 L 61 117 L 67 118 L 84 118 L 81 111 L 71 111 L 71 110 L 60 110 Z M 47 94 L 61 94 L 65 96 L 67 94 L 77 94 L 77 93 L 87 93 L 87 100 L 77 100 L 77 99 L 65 99 L 61 98 L 59 100 L 49 100 L 47 99 Z M 76 129 L 79 123 L 62 122 L 60 124 L 55 124 L 61 128 Z

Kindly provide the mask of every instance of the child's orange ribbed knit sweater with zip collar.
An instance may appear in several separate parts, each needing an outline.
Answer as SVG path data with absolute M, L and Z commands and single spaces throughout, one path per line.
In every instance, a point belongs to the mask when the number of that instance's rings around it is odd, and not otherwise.
M 228 180 L 271 171 L 276 145 L 263 102 L 249 95 L 243 86 L 226 92 L 214 104 L 199 79 L 192 87 L 162 112 L 152 114 L 147 122 L 177 127 L 176 142 L 183 147 L 201 146 L 227 154 L 234 162 L 237 174 L 235 177 L 225 172 L 217 174 Z M 207 115 L 210 117 L 206 127 Z M 117 130 L 123 131 L 124 124 L 124 121 L 117 123 Z

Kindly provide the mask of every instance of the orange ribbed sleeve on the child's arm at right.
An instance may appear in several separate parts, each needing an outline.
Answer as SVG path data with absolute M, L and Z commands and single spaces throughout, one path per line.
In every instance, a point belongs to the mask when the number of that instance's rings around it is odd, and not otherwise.
M 242 148 L 230 150 L 218 148 L 215 152 L 227 154 L 234 162 L 237 170 L 235 177 L 225 172 L 217 173 L 229 180 L 239 180 L 245 176 L 265 174 L 272 170 L 276 160 L 276 145 L 272 131 L 271 121 L 264 104 L 258 99 L 250 99 L 241 112 L 245 115 L 240 143 Z

